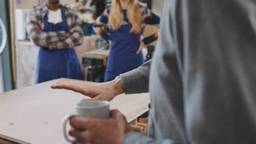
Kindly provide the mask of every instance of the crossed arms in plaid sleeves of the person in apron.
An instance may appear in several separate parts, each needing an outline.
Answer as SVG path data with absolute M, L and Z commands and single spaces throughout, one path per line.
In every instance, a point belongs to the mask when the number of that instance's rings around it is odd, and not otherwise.
M 77 15 L 69 32 L 43 32 L 38 25 L 36 13 L 32 10 L 27 17 L 27 32 L 34 44 L 49 49 L 71 49 L 83 43 L 83 29 Z

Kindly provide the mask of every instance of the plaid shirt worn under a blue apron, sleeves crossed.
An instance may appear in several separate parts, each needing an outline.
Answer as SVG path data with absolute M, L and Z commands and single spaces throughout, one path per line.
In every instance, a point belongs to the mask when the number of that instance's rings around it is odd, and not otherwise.
M 83 44 L 83 28 L 79 17 L 74 10 L 60 6 L 64 11 L 70 37 L 66 37 L 65 31 L 59 32 L 38 32 L 37 27 L 44 29 L 44 16 L 48 13 L 46 3 L 33 9 L 27 16 L 27 32 L 30 39 L 38 46 L 49 47 L 49 49 L 71 49 L 74 46 Z

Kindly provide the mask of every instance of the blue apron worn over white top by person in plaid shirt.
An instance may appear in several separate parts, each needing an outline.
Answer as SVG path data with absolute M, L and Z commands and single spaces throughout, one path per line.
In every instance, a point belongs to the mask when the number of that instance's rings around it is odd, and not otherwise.
M 48 15 L 44 17 L 44 32 L 68 32 L 65 13 L 61 11 L 61 23 L 49 23 Z M 59 79 L 61 77 L 69 79 L 84 80 L 77 54 L 74 48 L 64 50 L 49 50 L 40 47 L 37 62 L 36 83 Z

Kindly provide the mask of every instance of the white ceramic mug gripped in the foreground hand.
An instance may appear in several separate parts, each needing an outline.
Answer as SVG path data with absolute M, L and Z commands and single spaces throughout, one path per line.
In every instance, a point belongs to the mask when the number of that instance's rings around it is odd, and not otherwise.
M 67 136 L 67 122 L 69 118 L 78 116 L 84 118 L 110 118 L 109 102 L 104 100 L 92 100 L 78 103 L 75 105 L 76 114 L 68 114 L 63 119 L 63 135 L 68 142 L 75 142 L 75 140 L 70 140 Z

